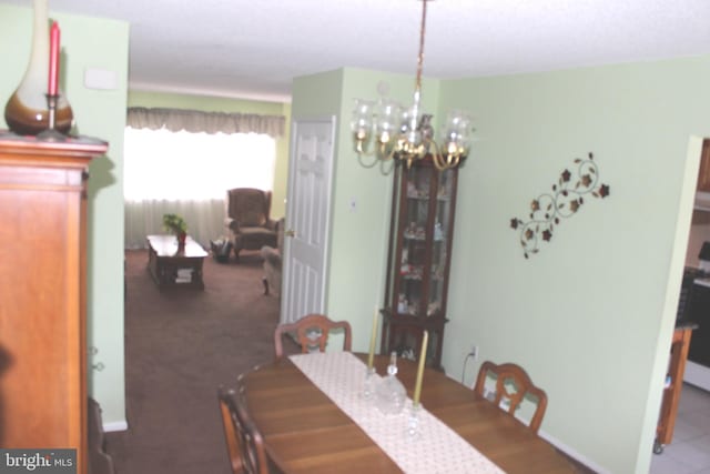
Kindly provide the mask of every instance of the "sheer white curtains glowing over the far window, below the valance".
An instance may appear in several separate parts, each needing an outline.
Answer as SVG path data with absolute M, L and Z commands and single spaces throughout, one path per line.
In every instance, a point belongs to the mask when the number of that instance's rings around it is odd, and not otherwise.
M 230 234 L 227 190 L 273 188 L 276 143 L 268 134 L 128 127 L 124 139 L 126 249 L 145 248 L 146 235 L 165 233 L 165 213 L 182 215 L 187 233 L 209 249 L 210 240 Z

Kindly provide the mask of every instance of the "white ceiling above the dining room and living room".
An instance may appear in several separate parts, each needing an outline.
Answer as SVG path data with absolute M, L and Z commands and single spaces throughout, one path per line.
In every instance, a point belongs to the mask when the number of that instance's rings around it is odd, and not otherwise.
M 30 0 L 0 0 L 31 6 Z M 416 71 L 420 0 L 50 0 L 130 23 L 130 88 L 290 100 L 294 77 Z M 710 0 L 436 0 L 424 75 L 710 53 Z

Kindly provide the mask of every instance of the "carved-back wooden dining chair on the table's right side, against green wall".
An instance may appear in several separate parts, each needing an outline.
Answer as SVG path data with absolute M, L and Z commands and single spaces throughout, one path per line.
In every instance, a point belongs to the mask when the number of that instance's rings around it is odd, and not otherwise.
M 496 377 L 493 396 L 487 396 L 486 379 L 488 375 Z M 528 426 L 534 433 L 537 433 L 540 428 L 542 416 L 545 416 L 545 410 L 547 409 L 547 394 L 532 383 L 521 366 L 514 363 L 494 364 L 490 361 L 484 362 L 478 371 L 474 391 L 497 406 L 507 405 L 507 412 L 513 415 L 520 406 L 520 402 L 526 396 L 532 395 L 537 399 L 537 406 Z

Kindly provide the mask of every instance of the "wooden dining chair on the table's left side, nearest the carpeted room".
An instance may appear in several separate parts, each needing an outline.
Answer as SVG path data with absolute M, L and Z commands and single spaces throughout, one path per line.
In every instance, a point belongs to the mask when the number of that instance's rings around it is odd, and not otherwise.
M 244 402 L 243 387 L 217 389 L 224 438 L 234 474 L 267 474 L 268 464 L 262 435 L 252 422 Z

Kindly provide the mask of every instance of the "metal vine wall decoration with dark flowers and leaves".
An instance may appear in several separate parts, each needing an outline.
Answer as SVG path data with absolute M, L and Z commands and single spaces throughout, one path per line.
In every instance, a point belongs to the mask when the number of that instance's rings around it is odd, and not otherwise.
M 510 220 L 510 226 L 520 231 L 520 245 L 523 253 L 528 255 L 539 252 L 540 239 L 549 242 L 552 239 L 555 226 L 561 218 L 574 215 L 585 203 L 584 196 L 591 194 L 595 198 L 609 195 L 608 184 L 599 183 L 599 168 L 594 161 L 592 153 L 589 158 L 575 159 L 577 175 L 565 169 L 559 180 L 552 184 L 551 193 L 542 193 L 530 203 L 528 220 L 518 218 Z

